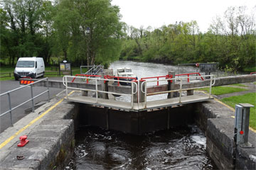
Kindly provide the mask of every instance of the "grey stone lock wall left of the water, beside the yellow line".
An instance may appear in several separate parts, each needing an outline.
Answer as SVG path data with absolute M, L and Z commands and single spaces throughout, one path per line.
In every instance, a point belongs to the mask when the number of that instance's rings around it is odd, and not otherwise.
M 74 152 L 77 108 L 74 103 L 63 101 L 49 111 L 28 133 L 25 147 L 17 147 L 17 141 L 9 148 L 0 169 L 64 169 Z M 18 160 L 17 156 L 24 159 Z

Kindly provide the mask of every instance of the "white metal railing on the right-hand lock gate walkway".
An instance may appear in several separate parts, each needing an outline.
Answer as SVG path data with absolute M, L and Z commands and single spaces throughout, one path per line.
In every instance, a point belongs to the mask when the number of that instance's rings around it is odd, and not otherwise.
M 201 86 L 201 87 L 194 87 L 194 88 L 190 88 L 190 89 L 182 89 L 182 86 L 183 86 L 183 81 L 182 79 L 188 79 L 188 77 L 178 77 L 178 78 L 172 78 L 172 79 L 157 79 L 157 80 L 146 80 L 144 82 L 142 82 L 142 85 L 141 85 L 141 91 L 142 93 L 144 94 L 144 98 L 145 98 L 145 101 L 144 101 L 144 108 L 146 108 L 146 96 L 148 95 L 156 95 L 156 94 L 168 94 L 168 93 L 171 93 L 171 92 L 175 92 L 175 91 L 178 91 L 179 92 L 179 103 L 181 103 L 181 92 L 182 91 L 188 91 L 188 90 L 193 90 L 193 89 L 203 89 L 203 88 L 209 88 L 209 98 L 210 98 L 210 95 L 211 95 L 211 90 L 212 90 L 212 86 L 215 84 L 215 75 L 202 75 L 201 77 L 210 77 L 210 84 L 209 86 Z M 190 78 L 196 78 L 196 77 L 190 77 Z M 156 82 L 156 81 L 171 81 L 171 80 L 179 80 L 178 83 L 180 84 L 180 88 L 177 89 L 177 90 L 171 90 L 171 91 L 161 91 L 161 92 L 154 92 L 154 93 L 147 93 L 146 92 L 146 84 L 149 83 L 149 82 Z M 187 83 L 189 84 L 189 83 Z M 144 88 L 143 88 L 144 87 Z

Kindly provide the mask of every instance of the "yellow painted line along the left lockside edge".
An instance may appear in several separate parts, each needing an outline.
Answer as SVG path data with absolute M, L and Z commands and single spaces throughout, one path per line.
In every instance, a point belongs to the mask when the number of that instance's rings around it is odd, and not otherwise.
M 71 91 L 68 96 L 70 94 L 73 94 L 75 91 Z M 30 123 L 28 123 L 28 125 L 24 126 L 23 128 L 21 128 L 20 130 L 18 130 L 18 132 L 16 132 L 14 135 L 12 135 L 11 137 L 9 137 L 6 141 L 2 142 L 0 145 L 0 149 L 2 147 L 4 147 L 5 145 L 7 145 L 11 140 L 14 139 L 14 137 L 18 136 L 18 134 L 20 134 L 21 132 L 23 132 L 24 130 L 26 130 L 26 128 L 30 127 L 31 125 L 33 125 L 33 123 L 36 123 L 39 119 L 43 118 L 44 115 L 46 115 L 48 112 L 52 111 L 53 108 L 55 108 L 56 106 L 58 106 L 61 102 L 63 102 L 64 98 L 60 99 L 60 101 L 58 101 L 57 103 L 55 103 L 55 105 L 51 106 L 50 108 L 48 108 L 47 111 L 45 111 L 44 113 L 42 113 L 41 115 L 39 115 L 37 118 L 35 118 L 34 120 L 32 120 Z

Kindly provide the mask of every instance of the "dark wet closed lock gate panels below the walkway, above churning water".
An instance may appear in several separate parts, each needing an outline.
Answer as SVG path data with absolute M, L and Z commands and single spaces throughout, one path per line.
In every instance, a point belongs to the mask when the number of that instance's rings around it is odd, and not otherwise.
M 142 135 L 146 132 L 167 129 L 168 125 L 169 127 L 186 125 L 193 121 L 192 107 L 192 105 L 186 105 L 176 108 L 128 112 L 80 104 L 79 120 L 82 125 L 99 126 Z

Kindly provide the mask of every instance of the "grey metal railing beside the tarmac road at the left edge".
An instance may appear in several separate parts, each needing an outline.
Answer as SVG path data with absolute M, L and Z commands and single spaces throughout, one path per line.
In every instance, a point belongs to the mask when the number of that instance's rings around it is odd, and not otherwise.
M 41 94 L 38 94 L 36 96 L 33 96 L 33 84 L 37 84 L 38 82 L 41 82 L 41 81 L 46 81 L 46 86 L 47 86 L 47 90 L 46 91 L 43 91 Z M 15 106 L 15 107 L 11 107 L 11 93 L 14 92 L 14 91 L 18 91 L 20 89 L 23 89 L 23 88 L 26 88 L 28 86 L 31 86 L 31 98 L 28 99 L 27 101 L 24 101 L 23 103 L 19 104 L 18 106 Z M 41 80 L 38 80 L 38 81 L 35 81 L 31 84 L 27 84 L 27 85 L 24 85 L 24 86 L 21 86 L 21 87 L 18 87 L 17 89 L 13 89 L 11 91 L 6 91 L 5 93 L 3 94 L 0 94 L 0 96 L 4 96 L 4 95 L 7 95 L 8 96 L 8 100 L 9 100 L 9 111 L 6 111 L 5 113 L 1 113 L 0 114 L 0 118 L 4 115 L 6 115 L 7 113 L 10 113 L 10 120 L 11 120 L 11 126 L 13 126 L 13 120 L 12 120 L 12 111 L 14 111 L 16 108 L 20 107 L 20 106 L 23 106 L 24 104 L 28 103 L 29 101 L 32 102 L 32 111 L 34 112 L 35 111 L 35 105 L 34 105 L 34 99 L 35 98 L 38 98 L 39 96 L 45 94 L 45 93 L 48 93 L 48 101 L 50 101 L 50 91 L 49 91 L 49 86 L 48 86 L 48 77 L 46 77 L 45 79 L 41 79 Z

